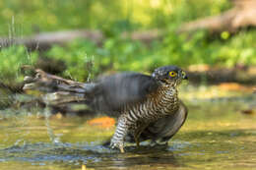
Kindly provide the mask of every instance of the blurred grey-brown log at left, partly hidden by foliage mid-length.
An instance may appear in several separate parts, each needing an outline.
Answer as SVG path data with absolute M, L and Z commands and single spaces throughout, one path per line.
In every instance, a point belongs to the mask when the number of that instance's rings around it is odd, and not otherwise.
M 148 44 L 154 40 L 160 39 L 162 37 L 162 32 L 163 31 L 159 29 L 123 32 L 121 37 L 132 40 L 139 40 Z M 23 44 L 30 50 L 46 50 L 54 44 L 65 45 L 68 42 L 78 38 L 88 39 L 95 42 L 99 46 L 104 40 L 103 33 L 99 30 L 66 30 L 38 33 L 28 37 L 0 37 L 0 48 L 8 47 L 13 44 Z

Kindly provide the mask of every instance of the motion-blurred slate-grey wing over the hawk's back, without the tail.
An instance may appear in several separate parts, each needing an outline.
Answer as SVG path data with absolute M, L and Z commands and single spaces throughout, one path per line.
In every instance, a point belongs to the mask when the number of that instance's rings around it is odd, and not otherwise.
M 122 73 L 100 79 L 92 90 L 90 105 L 106 113 L 119 113 L 124 105 L 134 104 L 146 99 L 158 88 L 151 76 L 138 73 Z M 90 98 L 89 98 L 90 99 Z

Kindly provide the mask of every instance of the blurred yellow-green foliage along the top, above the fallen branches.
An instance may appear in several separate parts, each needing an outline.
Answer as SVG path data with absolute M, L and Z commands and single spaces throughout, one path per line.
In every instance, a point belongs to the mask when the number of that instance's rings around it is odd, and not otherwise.
M 166 28 L 229 8 L 228 0 L 1 0 L 0 34 L 99 28 L 114 35 L 134 28 Z

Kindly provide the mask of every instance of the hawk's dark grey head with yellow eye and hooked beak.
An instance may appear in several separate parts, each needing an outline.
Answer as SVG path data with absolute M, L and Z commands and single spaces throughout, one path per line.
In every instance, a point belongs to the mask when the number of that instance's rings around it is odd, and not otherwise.
M 176 66 L 164 66 L 156 69 L 152 77 L 160 82 L 161 85 L 179 85 L 182 80 L 187 80 L 184 71 Z

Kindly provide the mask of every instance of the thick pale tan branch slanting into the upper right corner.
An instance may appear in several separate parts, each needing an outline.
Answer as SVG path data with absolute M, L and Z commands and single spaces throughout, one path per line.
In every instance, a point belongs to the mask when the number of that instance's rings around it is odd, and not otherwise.
M 208 29 L 235 32 L 239 28 L 256 27 L 256 1 L 233 0 L 234 7 L 219 16 L 207 17 L 182 25 L 178 32 Z

